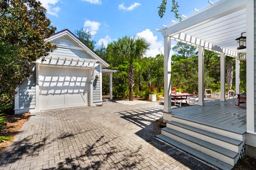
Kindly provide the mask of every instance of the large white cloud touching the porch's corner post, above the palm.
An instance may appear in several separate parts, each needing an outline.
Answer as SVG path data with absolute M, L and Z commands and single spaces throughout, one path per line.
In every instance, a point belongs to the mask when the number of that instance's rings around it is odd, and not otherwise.
M 151 44 L 150 49 L 147 50 L 147 57 L 155 57 L 157 54 L 164 54 L 164 46 L 161 40 L 157 40 L 157 36 L 154 36 L 153 32 L 146 29 L 137 33 L 137 37 L 143 37 Z

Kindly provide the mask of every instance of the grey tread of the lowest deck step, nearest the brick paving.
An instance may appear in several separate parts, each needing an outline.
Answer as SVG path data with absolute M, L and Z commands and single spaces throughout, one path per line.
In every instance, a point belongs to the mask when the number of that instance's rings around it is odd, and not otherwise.
M 230 170 L 230 169 L 233 168 L 233 166 L 231 166 L 231 165 L 229 165 L 229 164 L 227 164 L 225 162 L 222 162 L 219 159 L 216 159 L 214 157 L 206 155 L 206 154 L 204 154 L 201 151 L 198 151 L 198 150 L 196 150 L 194 148 L 191 148 L 191 147 L 189 147 L 187 145 L 184 145 L 183 143 L 180 143 L 180 142 L 178 142 L 176 140 L 173 140 L 173 139 L 171 139 L 169 137 L 166 137 L 163 134 L 158 134 L 158 135 L 156 135 L 156 137 L 158 139 L 160 139 L 160 140 L 163 140 L 166 143 L 169 143 L 170 145 L 172 145 L 174 147 L 177 147 L 177 148 L 179 148 L 179 149 L 189 153 L 190 155 L 193 155 L 193 156 L 195 156 L 195 157 L 197 157 L 199 159 L 203 158 L 204 162 L 207 162 L 207 163 L 209 163 L 209 164 L 211 164 L 211 165 L 213 165 L 213 166 L 215 166 L 217 168 L 220 168 L 220 169 L 223 169 L 223 170 Z

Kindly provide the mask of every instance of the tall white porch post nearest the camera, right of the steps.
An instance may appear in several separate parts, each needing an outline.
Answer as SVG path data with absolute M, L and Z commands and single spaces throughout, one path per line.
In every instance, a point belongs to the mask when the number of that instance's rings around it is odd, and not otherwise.
M 254 54 L 254 1 L 247 2 L 246 9 L 246 126 L 247 132 L 255 132 L 255 101 L 254 101 L 254 86 L 255 80 L 255 55 Z

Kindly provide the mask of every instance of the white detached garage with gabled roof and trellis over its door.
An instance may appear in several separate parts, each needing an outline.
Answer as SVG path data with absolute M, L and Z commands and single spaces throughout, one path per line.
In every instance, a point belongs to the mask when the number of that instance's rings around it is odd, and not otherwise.
M 36 61 L 33 75 L 17 89 L 15 114 L 102 102 L 102 73 L 115 72 L 103 69 L 109 64 L 67 29 L 45 41 L 58 48 Z

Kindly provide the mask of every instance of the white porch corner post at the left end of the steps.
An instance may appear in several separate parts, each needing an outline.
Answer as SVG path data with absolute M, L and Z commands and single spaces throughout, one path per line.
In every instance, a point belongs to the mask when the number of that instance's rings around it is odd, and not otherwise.
M 171 37 L 164 37 L 164 112 L 171 112 Z

